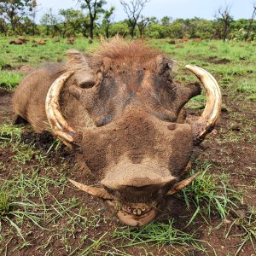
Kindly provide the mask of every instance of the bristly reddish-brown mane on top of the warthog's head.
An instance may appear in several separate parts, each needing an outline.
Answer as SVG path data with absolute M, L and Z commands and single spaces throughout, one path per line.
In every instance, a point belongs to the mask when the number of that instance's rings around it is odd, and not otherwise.
M 108 57 L 113 61 L 145 63 L 153 60 L 157 55 L 162 55 L 162 52 L 150 48 L 142 41 L 125 41 L 118 37 L 111 42 L 103 42 L 93 55 L 101 60 Z

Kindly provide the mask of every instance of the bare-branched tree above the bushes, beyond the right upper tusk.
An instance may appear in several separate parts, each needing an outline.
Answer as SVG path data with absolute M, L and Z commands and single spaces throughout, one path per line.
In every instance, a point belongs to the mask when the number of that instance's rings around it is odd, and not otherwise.
M 223 24 L 223 41 L 225 42 L 226 38 L 228 38 L 231 21 L 233 20 L 230 15 L 230 6 L 220 7 L 215 17 Z

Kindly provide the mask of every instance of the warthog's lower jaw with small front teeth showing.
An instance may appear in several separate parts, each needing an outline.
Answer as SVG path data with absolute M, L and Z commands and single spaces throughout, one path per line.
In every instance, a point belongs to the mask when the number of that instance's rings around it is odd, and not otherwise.
M 119 220 L 130 226 L 143 226 L 148 224 L 157 215 L 157 202 L 148 203 L 125 203 L 118 201 L 107 201 L 108 205 L 115 209 Z

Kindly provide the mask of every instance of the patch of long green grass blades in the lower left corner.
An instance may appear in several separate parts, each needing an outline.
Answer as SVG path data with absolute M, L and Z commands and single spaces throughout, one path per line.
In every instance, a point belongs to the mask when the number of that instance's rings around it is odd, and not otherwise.
M 61 244 L 66 251 L 71 252 L 69 238 L 74 239 L 77 230 L 87 230 L 96 226 L 99 216 L 74 198 L 60 201 L 52 194 L 55 189 L 58 190 L 58 195 L 64 193 L 67 187 L 65 177 L 59 177 L 57 180 L 47 176 L 40 177 L 37 168 L 30 169 L 31 173 L 16 174 L 14 178 L 0 185 L 0 232 L 9 237 L 13 236 L 14 229 L 15 236 L 21 239 L 20 247 L 16 248 L 18 250 L 32 245 L 28 230 L 39 229 L 44 233 L 55 233 L 55 236 L 62 237 Z M 49 172 L 56 170 L 50 168 Z M 49 244 L 49 241 L 44 241 L 42 246 L 47 248 Z

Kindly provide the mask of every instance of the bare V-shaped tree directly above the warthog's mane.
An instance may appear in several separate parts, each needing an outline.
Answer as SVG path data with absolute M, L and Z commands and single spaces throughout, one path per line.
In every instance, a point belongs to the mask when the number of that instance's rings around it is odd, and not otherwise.
M 131 30 L 131 38 L 134 38 L 134 31 L 137 26 L 137 20 L 139 19 L 145 4 L 148 3 L 149 0 L 131 0 L 130 3 L 126 3 L 125 0 L 120 0 L 122 4 L 125 14 L 128 17 L 128 25 Z

